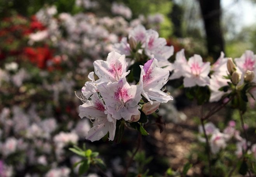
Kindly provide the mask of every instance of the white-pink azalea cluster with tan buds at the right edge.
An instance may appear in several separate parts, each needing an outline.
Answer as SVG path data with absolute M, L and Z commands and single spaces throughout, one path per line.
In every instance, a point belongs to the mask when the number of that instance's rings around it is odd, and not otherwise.
M 222 52 L 218 60 L 210 65 L 209 62 L 203 62 L 200 55 L 195 54 L 188 61 L 185 58 L 184 49 L 176 54 L 172 68 L 173 73 L 170 80 L 183 77 L 184 87 L 205 87 L 211 90 L 210 102 L 220 100 L 226 93 L 232 92 L 232 89 L 240 87 L 242 90 L 244 84 L 250 82 L 249 92 L 255 95 L 255 60 L 256 57 L 252 51 L 246 51 L 240 58 L 225 58 Z M 253 84 L 254 83 L 254 84 Z M 232 87 L 231 86 L 237 86 Z M 225 88 L 223 90 L 223 88 Z

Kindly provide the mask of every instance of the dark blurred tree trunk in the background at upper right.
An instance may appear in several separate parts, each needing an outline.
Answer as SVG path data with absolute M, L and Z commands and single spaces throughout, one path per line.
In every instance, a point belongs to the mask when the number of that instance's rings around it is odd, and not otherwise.
M 220 24 L 220 0 L 199 0 L 199 2 L 207 36 L 208 54 L 214 60 L 217 60 L 220 52 L 224 52 L 224 41 Z

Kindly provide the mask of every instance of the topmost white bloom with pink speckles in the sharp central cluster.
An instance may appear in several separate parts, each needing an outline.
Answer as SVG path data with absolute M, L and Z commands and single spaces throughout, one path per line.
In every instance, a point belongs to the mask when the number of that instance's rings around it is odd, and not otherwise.
M 93 63 L 95 74 L 103 82 L 118 82 L 121 77 L 125 77 L 130 71 L 126 72 L 125 55 L 115 51 L 108 54 L 107 60 L 96 60 Z

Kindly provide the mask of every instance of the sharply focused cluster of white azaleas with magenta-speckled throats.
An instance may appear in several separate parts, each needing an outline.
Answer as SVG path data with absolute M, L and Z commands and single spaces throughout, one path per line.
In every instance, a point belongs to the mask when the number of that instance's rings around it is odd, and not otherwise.
M 106 61 L 96 60 L 93 65 L 99 79 L 94 79 L 94 72 L 89 74 L 91 81 L 85 82 L 82 88 L 84 99 L 81 100 L 84 104 L 79 106 L 79 116 L 93 122 L 86 137 L 88 140 L 96 141 L 109 133 L 109 140 L 113 141 L 117 120 L 134 122 L 140 119 L 139 102 L 145 100 L 150 103 L 151 106 L 145 104 L 148 109 L 142 109 L 145 114 L 150 114 L 161 102 L 172 100 L 169 94 L 160 90 L 167 83 L 169 71 L 157 67 L 155 58 L 148 60 L 144 66 L 140 65 L 137 85 L 130 85 L 126 80 L 130 71 L 127 71 L 125 55 L 112 51 Z M 141 100 L 141 95 L 144 100 Z

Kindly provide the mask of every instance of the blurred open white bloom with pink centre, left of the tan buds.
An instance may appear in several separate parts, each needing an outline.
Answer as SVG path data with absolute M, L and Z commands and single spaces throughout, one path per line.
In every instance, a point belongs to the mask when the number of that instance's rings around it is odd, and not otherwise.
M 190 57 L 188 65 L 184 66 L 184 87 L 209 85 L 210 78 L 208 77 L 208 74 L 210 69 L 210 62 L 203 62 L 200 55 L 195 54 Z

